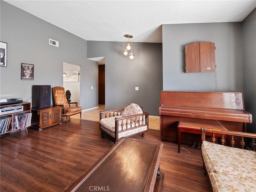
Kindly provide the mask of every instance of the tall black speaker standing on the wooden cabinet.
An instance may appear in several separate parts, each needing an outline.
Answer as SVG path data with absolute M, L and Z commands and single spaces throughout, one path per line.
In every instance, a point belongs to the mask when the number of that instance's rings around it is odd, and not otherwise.
M 32 108 L 40 109 L 51 106 L 51 86 L 32 86 Z

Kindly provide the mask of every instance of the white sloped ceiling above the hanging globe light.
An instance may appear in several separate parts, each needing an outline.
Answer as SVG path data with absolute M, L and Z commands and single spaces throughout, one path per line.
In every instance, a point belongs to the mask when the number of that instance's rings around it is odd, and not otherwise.
M 241 22 L 256 0 L 5 0 L 85 40 L 162 42 L 162 24 Z

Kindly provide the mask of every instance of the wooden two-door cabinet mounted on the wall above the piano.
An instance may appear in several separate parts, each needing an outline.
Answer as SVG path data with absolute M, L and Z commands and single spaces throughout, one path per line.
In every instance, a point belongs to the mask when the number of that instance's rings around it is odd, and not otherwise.
M 186 73 L 215 72 L 215 43 L 196 42 L 185 46 Z

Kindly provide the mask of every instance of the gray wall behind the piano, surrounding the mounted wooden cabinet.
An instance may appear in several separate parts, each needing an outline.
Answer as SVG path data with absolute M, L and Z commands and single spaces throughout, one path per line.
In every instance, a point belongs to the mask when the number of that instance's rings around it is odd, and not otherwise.
M 187 91 L 243 91 L 241 23 L 163 25 L 163 88 Z M 185 73 L 186 45 L 214 42 L 216 73 Z

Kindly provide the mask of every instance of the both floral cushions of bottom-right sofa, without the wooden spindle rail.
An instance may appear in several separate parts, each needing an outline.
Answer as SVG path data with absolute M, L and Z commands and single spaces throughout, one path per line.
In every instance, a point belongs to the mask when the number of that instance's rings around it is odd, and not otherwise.
M 214 192 L 256 191 L 256 152 L 203 141 L 202 157 Z

